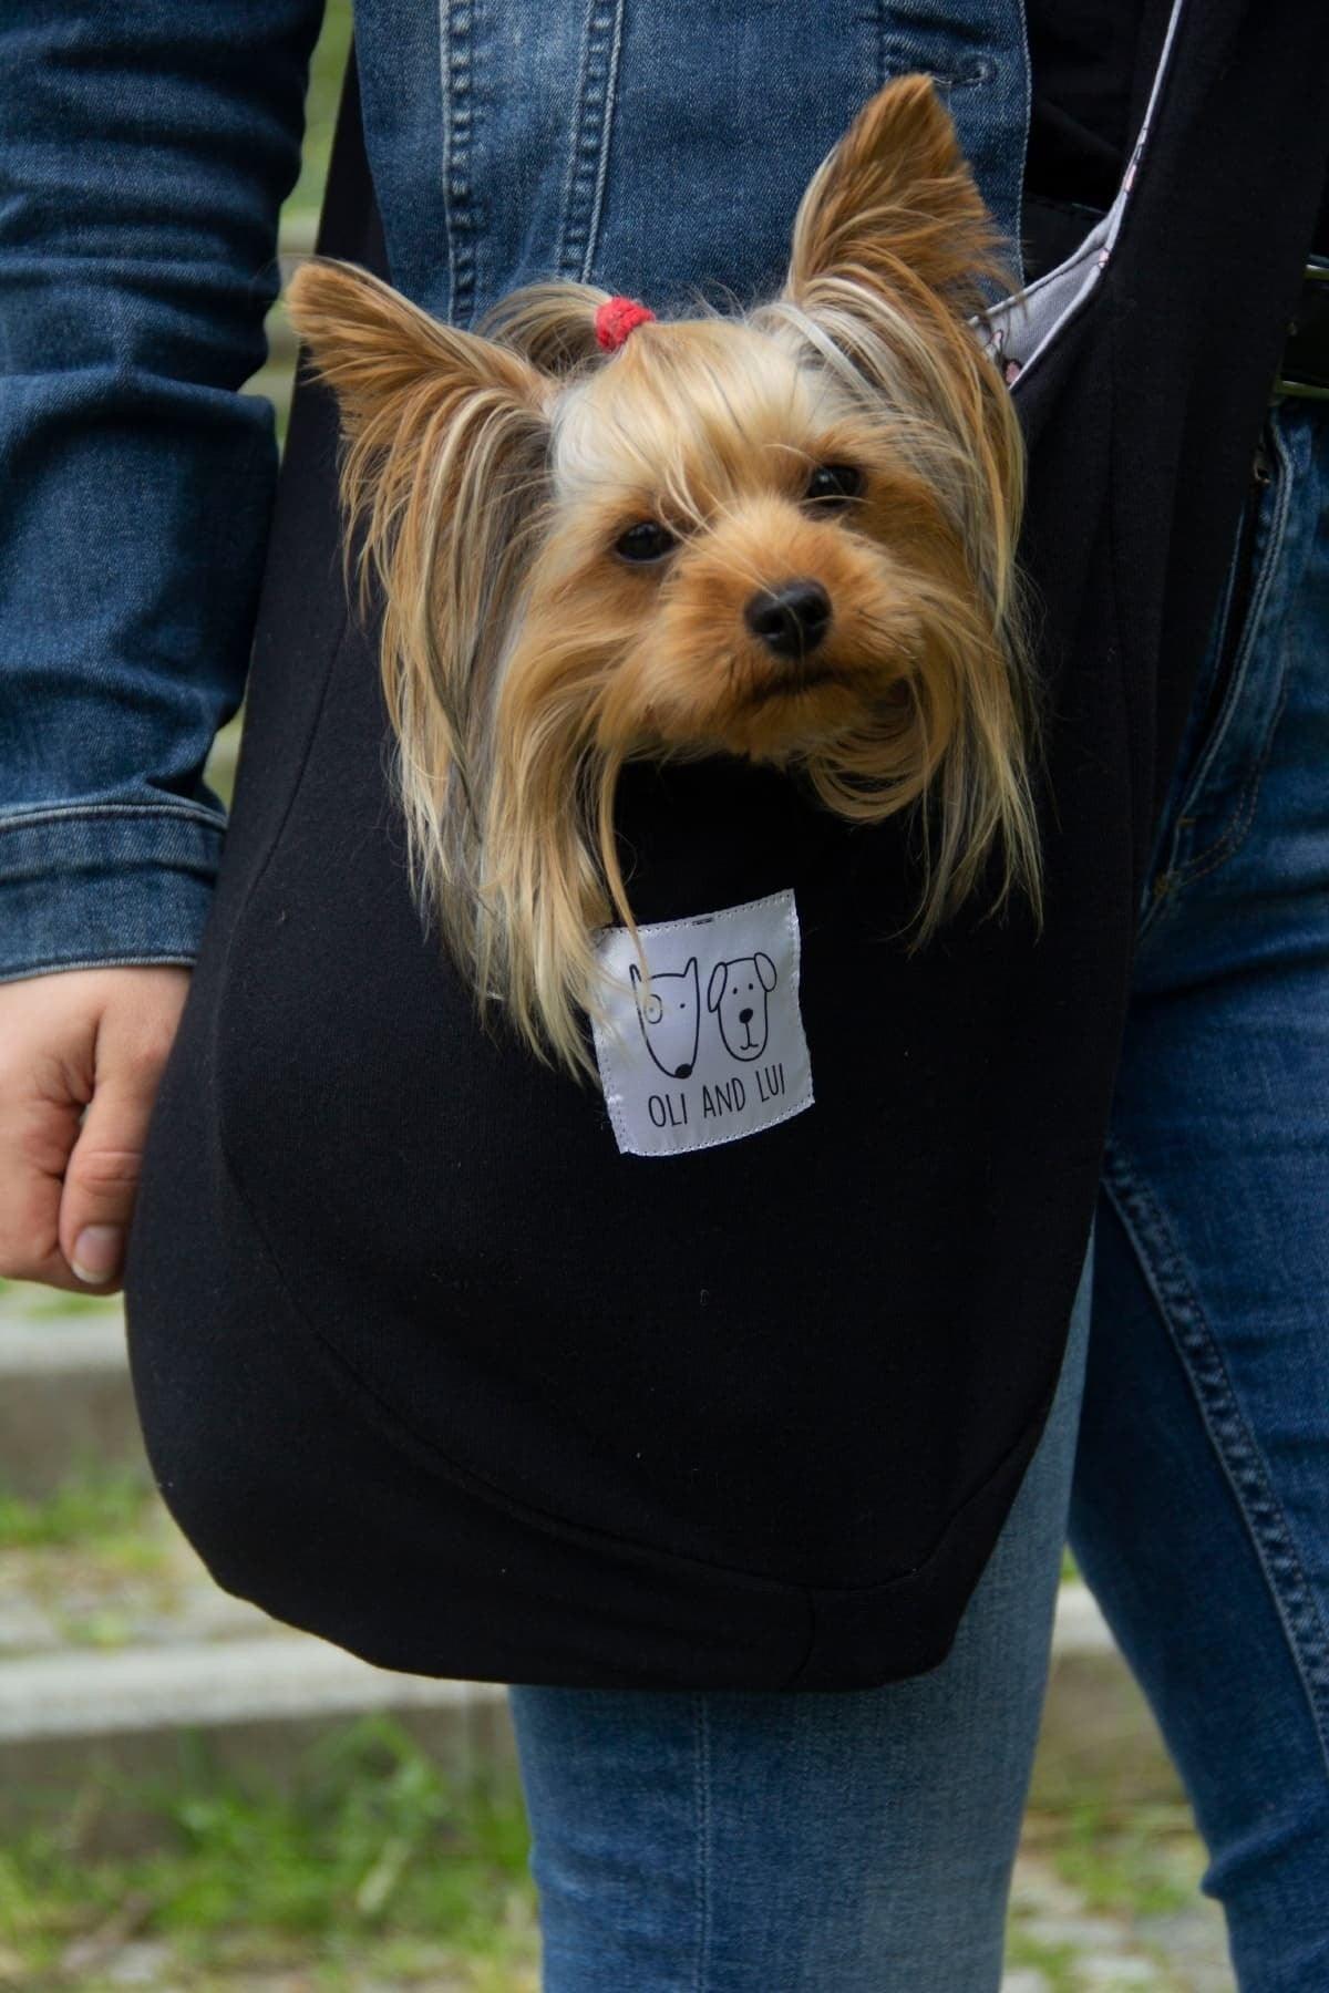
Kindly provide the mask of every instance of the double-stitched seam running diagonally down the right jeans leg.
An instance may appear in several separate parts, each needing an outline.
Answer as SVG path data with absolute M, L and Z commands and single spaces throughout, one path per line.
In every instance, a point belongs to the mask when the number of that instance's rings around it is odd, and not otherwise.
M 1154 1303 L 1190 1379 L 1209 1443 L 1245 1521 L 1329 1770 L 1329 1628 L 1305 1576 L 1287 1517 L 1237 1403 L 1223 1353 L 1186 1278 L 1168 1220 L 1116 1142 L 1110 1142 L 1104 1154 L 1102 1186 L 1134 1246 Z

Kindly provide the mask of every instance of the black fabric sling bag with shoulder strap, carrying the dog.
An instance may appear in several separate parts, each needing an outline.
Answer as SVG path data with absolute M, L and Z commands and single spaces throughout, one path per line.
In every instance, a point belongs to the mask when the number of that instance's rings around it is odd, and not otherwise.
M 855 1688 L 946 1654 L 1062 1359 L 1327 82 L 1325 10 L 1182 0 L 1130 197 L 1000 327 L 1042 939 L 974 911 L 907 959 L 903 825 L 729 761 L 630 771 L 640 919 L 795 893 L 815 1104 L 751 1140 L 620 1154 L 594 1092 L 478 1032 L 406 891 L 335 415 L 299 387 L 126 1283 L 147 1451 L 225 1588 L 488 1680 Z M 385 269 L 353 88 L 321 247 Z

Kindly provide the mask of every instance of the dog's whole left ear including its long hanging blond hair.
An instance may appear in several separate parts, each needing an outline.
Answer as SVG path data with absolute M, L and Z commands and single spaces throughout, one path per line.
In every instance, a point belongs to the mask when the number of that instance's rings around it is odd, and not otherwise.
M 383 598 L 410 883 L 466 959 L 482 899 L 478 771 L 530 562 L 524 528 L 548 482 L 552 387 L 520 353 L 432 319 L 351 263 L 303 263 L 287 303 L 341 411 L 345 570 L 357 560 L 361 614 L 375 584 Z

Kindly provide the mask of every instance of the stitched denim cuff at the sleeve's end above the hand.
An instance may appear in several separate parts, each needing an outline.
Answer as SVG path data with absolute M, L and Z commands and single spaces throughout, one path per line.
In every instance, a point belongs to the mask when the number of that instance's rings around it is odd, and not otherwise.
M 0 817 L 0 983 L 193 963 L 223 833 L 223 815 L 183 801 Z

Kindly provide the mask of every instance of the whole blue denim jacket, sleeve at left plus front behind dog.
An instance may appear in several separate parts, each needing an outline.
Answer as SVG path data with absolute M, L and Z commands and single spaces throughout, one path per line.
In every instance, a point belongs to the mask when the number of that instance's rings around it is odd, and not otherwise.
M 0 18 L 0 981 L 191 963 L 277 442 L 265 359 L 321 0 Z M 361 0 L 393 281 L 470 325 L 536 277 L 689 309 L 777 289 L 815 165 L 930 70 L 1002 229 L 1022 0 Z

